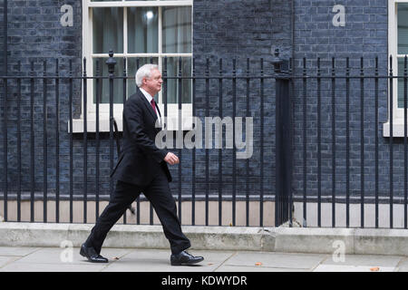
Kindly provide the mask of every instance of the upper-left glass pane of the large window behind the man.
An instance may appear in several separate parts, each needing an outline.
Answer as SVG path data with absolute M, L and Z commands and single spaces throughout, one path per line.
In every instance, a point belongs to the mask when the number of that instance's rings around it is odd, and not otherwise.
M 123 53 L 123 8 L 93 8 L 93 53 Z

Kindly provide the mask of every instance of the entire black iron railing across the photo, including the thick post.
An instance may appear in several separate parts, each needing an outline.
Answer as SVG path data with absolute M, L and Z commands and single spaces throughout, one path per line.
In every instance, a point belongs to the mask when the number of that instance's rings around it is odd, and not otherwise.
M 127 61 L 123 60 L 124 68 Z M 287 222 L 289 227 L 300 223 L 303 227 L 407 228 L 406 57 L 399 63 L 397 76 L 392 57 L 381 65 L 378 58 L 361 58 L 358 64 L 349 58 L 295 63 L 284 62 L 276 53 L 267 68 L 262 59 L 248 59 L 243 67 L 238 67 L 237 60 L 192 59 L 188 75 L 182 71 L 181 59 L 177 75 L 169 75 L 167 62 L 167 58 L 162 60 L 163 117 L 170 115 L 170 82 L 178 88 L 180 116 L 182 82 L 188 81 L 192 116 L 202 123 L 217 115 L 231 120 L 252 118 L 254 123 L 253 154 L 244 160 L 238 159 L 241 152 L 236 144 L 225 148 L 227 140 L 221 148 L 172 149 L 181 160 L 171 168 L 175 180 L 171 190 L 183 224 L 264 227 Z M 114 130 L 114 88 L 122 87 L 124 104 L 134 78 L 126 69 L 115 70 L 112 53 L 108 62 L 95 62 L 92 76 L 85 70 L 81 75 L 74 73 L 73 61 L 61 73 L 61 63 L 53 64 L 54 73 L 48 69 L 49 62 L 42 63 L 41 73 L 34 70 L 35 63 L 30 63 L 29 72 L 18 63 L 16 72 L 0 78 L 0 197 L 6 221 L 25 220 L 25 201 L 30 212 L 27 221 L 49 222 L 48 206 L 53 205 L 53 221 L 87 223 L 90 206 L 97 218 L 100 203 L 113 193 L 109 173 L 118 156 L 115 142 L 119 146 L 121 139 Z M 108 65 L 108 76 L 101 75 L 102 65 Z M 398 88 L 394 80 L 399 80 Z M 92 130 L 85 109 L 91 100 L 90 82 L 95 109 Z M 103 82 L 109 83 L 108 131 L 100 128 Z M 395 90 L 399 97 L 394 100 Z M 400 123 L 396 123 L 396 113 Z M 72 133 L 73 121 L 80 117 L 82 132 Z M 395 131 L 397 125 L 403 133 Z M 221 128 L 221 136 L 232 128 L 232 140 L 236 140 L 235 123 Z M 242 128 L 247 129 L 247 124 Z M 36 201 L 43 208 L 38 209 Z M 142 201 L 138 198 L 131 208 L 136 224 L 142 223 Z M 61 208 L 62 202 L 68 202 L 68 207 Z M 83 218 L 74 212 L 77 202 L 82 203 Z M 384 206 L 386 212 L 381 209 Z M 38 218 L 41 209 L 43 215 Z M 65 211 L 68 218 L 61 218 Z M 153 208 L 148 211 L 148 223 L 153 224 Z M 186 222 L 183 217 L 187 216 Z M 129 222 L 126 215 L 123 222 Z

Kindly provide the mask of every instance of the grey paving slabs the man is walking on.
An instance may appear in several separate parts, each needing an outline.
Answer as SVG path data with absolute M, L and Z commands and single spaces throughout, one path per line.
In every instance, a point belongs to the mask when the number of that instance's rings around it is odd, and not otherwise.
M 407 256 L 191 250 L 197 266 L 170 266 L 170 251 L 102 248 L 92 264 L 78 247 L 0 247 L 0 272 L 408 272 Z

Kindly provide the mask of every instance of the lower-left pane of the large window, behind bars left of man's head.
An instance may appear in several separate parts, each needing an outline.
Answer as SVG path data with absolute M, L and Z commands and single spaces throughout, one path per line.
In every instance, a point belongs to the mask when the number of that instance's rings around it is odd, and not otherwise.
M 114 58 L 116 61 L 115 65 L 115 76 L 123 75 L 123 59 Z M 108 65 L 106 61 L 107 57 L 103 58 L 93 58 L 93 76 L 102 75 L 109 76 Z M 99 61 L 99 74 L 96 72 L 96 62 Z M 99 92 L 100 92 L 100 103 L 109 103 L 109 79 L 99 80 Z M 96 103 L 96 80 L 93 80 L 93 103 Z M 113 80 L 113 103 L 123 103 L 123 81 L 116 79 Z

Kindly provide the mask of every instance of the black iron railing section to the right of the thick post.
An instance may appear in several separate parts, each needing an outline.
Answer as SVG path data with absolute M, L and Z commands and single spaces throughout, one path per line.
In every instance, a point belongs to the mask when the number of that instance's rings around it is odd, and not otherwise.
M 399 205 L 398 218 L 403 218 L 403 223 L 398 223 L 398 227 L 407 228 L 406 57 L 403 69 L 400 63 L 398 76 L 393 73 L 392 56 L 388 72 L 379 67 L 378 57 L 374 62 L 363 57 L 358 61 L 359 66 L 352 67 L 349 58 L 332 58 L 331 66 L 323 68 L 318 58 L 316 67 L 306 68 L 304 58 L 302 73 L 291 76 L 296 83 L 298 125 L 296 189 L 292 193 L 299 202 L 302 215 L 297 217 L 303 219 L 304 227 L 393 228 L 397 221 L 393 213 Z M 340 62 L 345 66 L 337 64 Z M 372 62 L 374 66 L 364 67 L 364 63 Z M 398 88 L 403 105 L 398 109 L 394 106 L 393 80 L 403 82 Z M 403 134 L 398 136 L 393 131 L 396 110 L 403 110 Z M 310 123 L 314 131 L 310 130 Z M 400 158 L 398 167 L 395 151 Z M 310 204 L 316 205 L 313 218 L 307 209 Z M 382 204 L 388 205 L 388 212 L 380 211 Z M 357 205 L 358 208 L 351 208 Z M 323 206 L 327 206 L 325 210 Z M 339 212 L 338 206 L 345 208 Z M 293 219 L 289 219 L 292 223 Z

